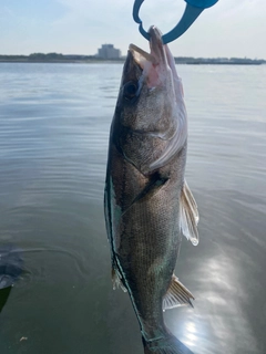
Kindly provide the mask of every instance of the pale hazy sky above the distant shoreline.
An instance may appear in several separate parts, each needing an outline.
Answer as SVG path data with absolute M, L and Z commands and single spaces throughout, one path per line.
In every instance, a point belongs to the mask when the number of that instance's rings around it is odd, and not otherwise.
M 129 44 L 149 50 L 132 18 L 134 0 L 0 0 L 0 54 L 93 55 L 112 43 L 125 55 Z M 140 17 L 147 30 L 176 25 L 184 0 L 145 0 Z M 175 56 L 266 59 L 265 0 L 219 0 L 180 39 Z

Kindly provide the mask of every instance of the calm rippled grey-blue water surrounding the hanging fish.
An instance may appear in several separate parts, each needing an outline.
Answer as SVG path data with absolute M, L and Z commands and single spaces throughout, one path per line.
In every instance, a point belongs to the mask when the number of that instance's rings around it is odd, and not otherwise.
M 0 64 L 0 246 L 23 272 L 0 313 L 1 354 L 143 353 L 113 291 L 103 219 L 122 64 Z M 266 353 L 266 65 L 178 66 L 200 244 L 176 274 L 195 308 L 165 313 L 195 354 Z M 0 296 L 3 293 L 0 293 Z

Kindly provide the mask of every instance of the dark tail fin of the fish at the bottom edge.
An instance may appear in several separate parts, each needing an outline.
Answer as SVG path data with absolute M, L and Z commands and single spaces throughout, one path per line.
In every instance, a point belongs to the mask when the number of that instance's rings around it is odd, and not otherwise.
M 193 354 L 188 347 L 171 334 L 153 341 L 145 341 L 142 337 L 142 342 L 145 354 Z

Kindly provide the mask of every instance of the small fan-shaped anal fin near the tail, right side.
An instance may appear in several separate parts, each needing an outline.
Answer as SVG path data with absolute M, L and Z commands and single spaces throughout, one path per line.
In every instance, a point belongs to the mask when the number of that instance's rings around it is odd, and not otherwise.
M 194 300 L 193 294 L 178 281 L 178 278 L 173 274 L 170 288 L 163 299 L 163 310 L 181 305 L 191 305 L 193 308 L 191 299 Z

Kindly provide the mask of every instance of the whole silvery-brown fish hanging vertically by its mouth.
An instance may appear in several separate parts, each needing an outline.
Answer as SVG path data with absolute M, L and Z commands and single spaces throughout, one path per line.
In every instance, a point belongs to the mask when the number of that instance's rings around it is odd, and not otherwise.
M 174 58 L 151 27 L 131 44 L 110 128 L 104 214 L 113 288 L 130 295 L 145 354 L 192 353 L 163 312 L 192 305 L 174 274 L 182 236 L 198 243 L 198 211 L 185 180 L 187 114 Z

